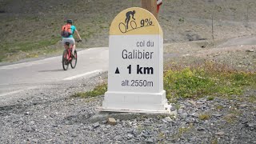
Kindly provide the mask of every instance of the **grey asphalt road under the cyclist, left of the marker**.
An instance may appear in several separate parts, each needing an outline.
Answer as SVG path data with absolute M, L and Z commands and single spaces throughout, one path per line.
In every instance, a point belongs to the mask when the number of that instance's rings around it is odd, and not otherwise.
M 108 70 L 108 51 L 106 47 L 78 51 L 77 66 L 66 71 L 62 69 L 62 56 L 0 66 L 0 97 L 100 74 Z

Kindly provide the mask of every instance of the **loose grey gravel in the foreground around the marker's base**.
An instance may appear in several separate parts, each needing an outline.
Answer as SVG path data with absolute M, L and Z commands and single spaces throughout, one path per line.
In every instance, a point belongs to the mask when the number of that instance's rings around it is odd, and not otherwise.
M 71 98 L 106 74 L 16 95 L 0 102 L 1 143 L 256 143 L 254 103 L 207 96 L 180 99 L 178 117 L 102 114 L 103 96 Z M 255 90 L 246 92 L 255 95 Z M 26 95 L 26 97 L 22 97 Z M 106 118 L 115 118 L 110 126 Z

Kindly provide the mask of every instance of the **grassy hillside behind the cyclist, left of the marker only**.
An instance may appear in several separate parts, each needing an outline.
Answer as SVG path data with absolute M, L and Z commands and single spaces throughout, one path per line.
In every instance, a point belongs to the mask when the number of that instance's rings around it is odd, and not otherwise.
M 126 5 L 118 6 L 121 3 L 117 3 L 118 8 L 114 9 L 105 6 L 107 1 L 77 0 L 71 2 L 70 6 L 66 6 L 70 1 L 4 2 L 5 6 L 0 7 L 0 10 L 6 11 L 0 15 L 1 19 L 5 19 L 0 24 L 4 33 L 0 45 L 7 54 L 2 54 L 0 61 L 16 61 L 54 51 L 58 53 L 62 50 L 60 27 L 66 18 L 74 19 L 84 40 L 79 47 L 107 46 L 110 22 L 120 10 L 132 4 L 126 2 Z M 110 5 L 113 3 L 110 1 Z

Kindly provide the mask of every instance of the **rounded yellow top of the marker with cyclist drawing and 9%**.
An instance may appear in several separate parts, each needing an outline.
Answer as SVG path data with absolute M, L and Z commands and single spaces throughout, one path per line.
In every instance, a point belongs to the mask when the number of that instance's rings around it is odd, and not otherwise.
M 150 11 L 140 7 L 122 10 L 110 26 L 110 35 L 160 34 L 162 28 Z

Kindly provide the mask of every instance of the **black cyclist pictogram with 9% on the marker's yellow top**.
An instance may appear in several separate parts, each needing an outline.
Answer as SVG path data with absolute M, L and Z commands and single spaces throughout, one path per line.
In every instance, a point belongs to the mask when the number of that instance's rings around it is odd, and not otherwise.
M 150 20 L 150 18 L 142 18 L 142 20 L 140 21 L 141 26 L 138 27 L 137 23 L 135 22 L 136 19 L 134 18 L 135 14 L 136 14 L 135 10 L 126 12 L 125 22 L 120 22 L 119 25 L 118 25 L 119 30 L 122 33 L 126 33 L 126 32 L 129 32 L 131 30 L 136 30 L 136 29 L 142 28 L 144 26 L 154 26 L 153 22 Z M 132 18 L 131 21 L 130 21 L 130 18 Z

